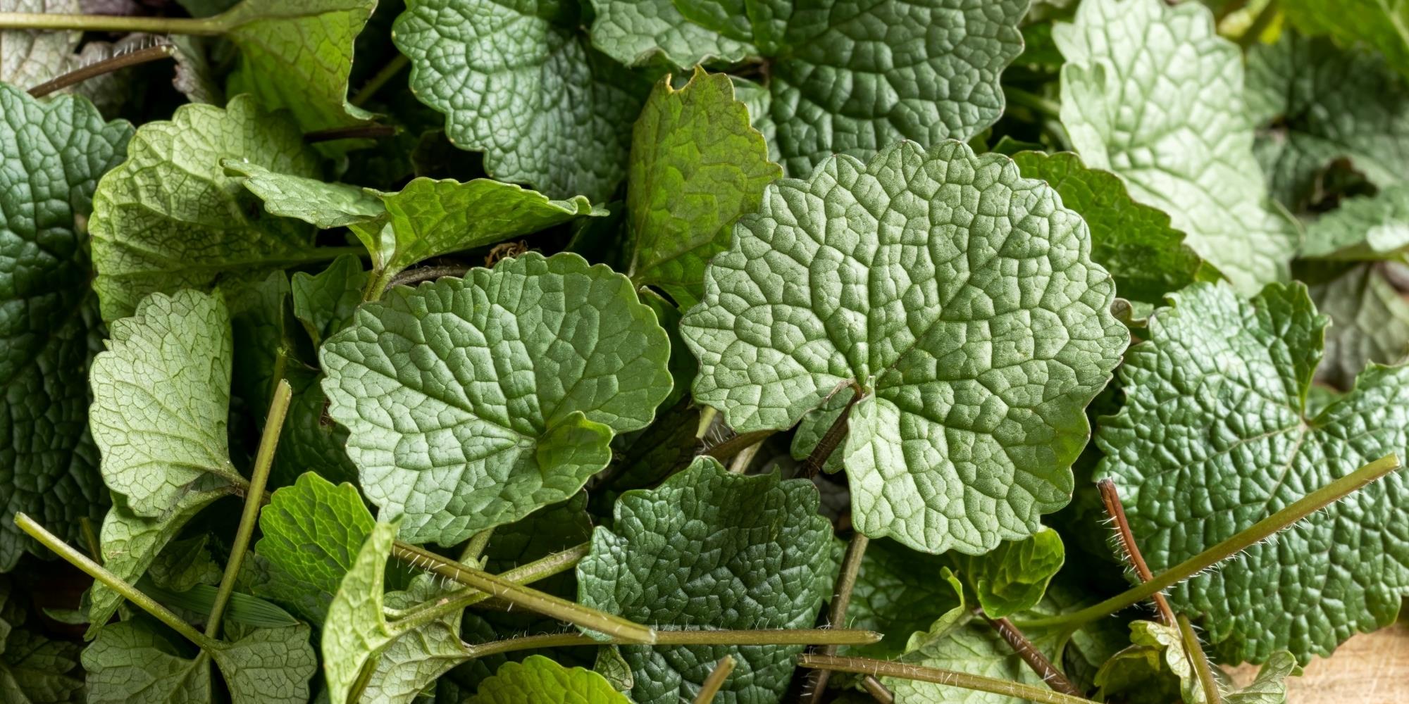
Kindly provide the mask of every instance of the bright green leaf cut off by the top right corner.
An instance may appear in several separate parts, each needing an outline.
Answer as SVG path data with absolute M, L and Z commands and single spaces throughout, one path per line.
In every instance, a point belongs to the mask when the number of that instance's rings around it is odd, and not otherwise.
M 1341 45 L 1367 44 L 1385 56 L 1385 63 L 1409 76 L 1409 7 L 1381 0 L 1284 0 L 1286 20 L 1308 35 L 1330 35 Z M 1285 32 L 1284 32 L 1285 34 Z M 1353 76 L 1346 76 L 1354 80 Z

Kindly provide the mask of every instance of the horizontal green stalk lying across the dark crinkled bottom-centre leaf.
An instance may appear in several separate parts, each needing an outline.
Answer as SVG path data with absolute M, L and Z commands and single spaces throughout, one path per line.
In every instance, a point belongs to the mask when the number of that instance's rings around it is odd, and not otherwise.
M 762 631 L 657 631 L 652 645 L 807 645 L 833 642 L 837 645 L 871 645 L 881 642 L 881 634 L 851 628 L 782 628 Z M 572 648 L 578 645 L 640 645 L 612 638 L 599 641 L 583 634 L 526 635 L 507 641 L 464 645 L 471 658 L 530 650 L 535 648 Z

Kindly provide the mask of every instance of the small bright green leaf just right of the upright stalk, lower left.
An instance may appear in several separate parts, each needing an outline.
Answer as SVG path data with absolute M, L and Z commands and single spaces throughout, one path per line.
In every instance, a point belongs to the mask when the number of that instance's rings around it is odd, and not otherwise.
M 352 484 L 333 484 L 309 472 L 279 489 L 259 513 L 263 536 L 255 552 L 269 562 L 261 594 L 321 625 L 375 522 Z

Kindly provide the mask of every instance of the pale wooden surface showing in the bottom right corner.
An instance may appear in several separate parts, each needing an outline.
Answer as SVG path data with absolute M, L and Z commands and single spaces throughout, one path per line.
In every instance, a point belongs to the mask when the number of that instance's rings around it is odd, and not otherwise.
M 1255 673 L 1250 665 L 1231 670 L 1239 684 Z M 1346 641 L 1286 684 L 1288 704 L 1409 704 L 1409 622 Z

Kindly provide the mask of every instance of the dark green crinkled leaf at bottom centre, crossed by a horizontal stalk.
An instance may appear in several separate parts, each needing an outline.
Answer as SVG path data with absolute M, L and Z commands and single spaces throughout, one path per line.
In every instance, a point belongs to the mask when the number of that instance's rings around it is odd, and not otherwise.
M 617 498 L 578 563 L 578 600 L 657 628 L 809 628 L 831 593 L 831 524 L 817 490 L 731 474 L 712 458 Z M 714 663 L 737 660 L 716 701 L 778 701 L 802 646 L 623 646 L 638 704 L 692 700 Z

